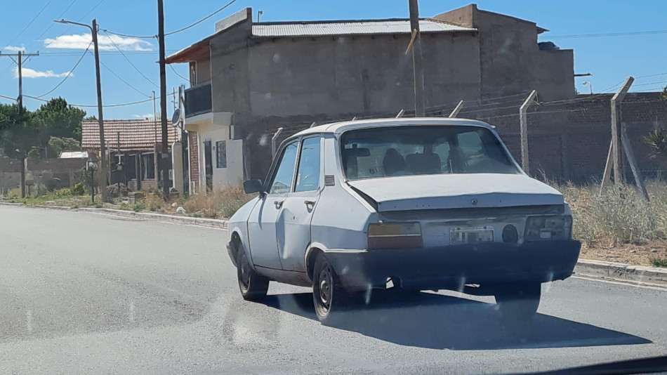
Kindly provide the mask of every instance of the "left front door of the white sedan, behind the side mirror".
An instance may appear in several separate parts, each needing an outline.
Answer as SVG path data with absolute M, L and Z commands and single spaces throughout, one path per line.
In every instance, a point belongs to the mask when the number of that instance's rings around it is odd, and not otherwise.
M 295 140 L 282 148 L 279 162 L 265 184 L 267 193 L 248 218 L 250 254 L 254 265 L 282 269 L 276 239 L 276 221 L 287 195 L 292 190 L 298 143 Z

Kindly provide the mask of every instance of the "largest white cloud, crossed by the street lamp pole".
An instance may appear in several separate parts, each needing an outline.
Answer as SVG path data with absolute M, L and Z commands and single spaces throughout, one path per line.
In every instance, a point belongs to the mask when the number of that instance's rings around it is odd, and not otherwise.
M 91 34 L 60 35 L 60 37 L 56 37 L 55 39 L 44 39 L 44 47 L 86 49 L 92 40 L 93 37 Z M 121 51 L 153 51 L 151 48 L 152 44 L 148 41 L 137 38 L 119 37 L 117 35 L 108 37 L 106 35 L 98 36 L 98 46 L 100 51 L 115 51 L 116 46 Z

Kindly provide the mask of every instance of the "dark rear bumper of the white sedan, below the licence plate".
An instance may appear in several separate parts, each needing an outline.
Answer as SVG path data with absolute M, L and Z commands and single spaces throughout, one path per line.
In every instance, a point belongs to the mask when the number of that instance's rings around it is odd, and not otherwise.
M 549 282 L 572 275 L 581 242 L 452 245 L 428 249 L 327 251 L 343 287 L 384 288 L 397 277 L 410 289 L 456 289 L 465 284 Z

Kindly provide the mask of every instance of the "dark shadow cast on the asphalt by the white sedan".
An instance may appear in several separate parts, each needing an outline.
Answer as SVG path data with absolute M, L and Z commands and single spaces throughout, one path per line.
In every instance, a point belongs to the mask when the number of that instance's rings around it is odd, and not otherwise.
M 310 293 L 268 296 L 264 303 L 317 320 Z M 430 293 L 401 300 L 388 291 L 375 293 L 369 305 L 345 311 L 336 328 L 404 346 L 450 350 L 651 343 L 638 336 L 543 314 L 529 321 L 508 323 L 494 304 Z

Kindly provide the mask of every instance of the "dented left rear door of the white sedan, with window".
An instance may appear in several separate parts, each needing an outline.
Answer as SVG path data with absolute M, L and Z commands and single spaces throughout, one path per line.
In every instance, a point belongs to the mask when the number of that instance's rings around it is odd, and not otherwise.
M 284 270 L 305 272 L 310 221 L 323 184 L 322 149 L 320 136 L 301 140 L 294 188 L 287 195 L 276 224 L 278 253 Z

